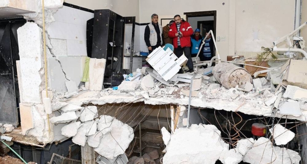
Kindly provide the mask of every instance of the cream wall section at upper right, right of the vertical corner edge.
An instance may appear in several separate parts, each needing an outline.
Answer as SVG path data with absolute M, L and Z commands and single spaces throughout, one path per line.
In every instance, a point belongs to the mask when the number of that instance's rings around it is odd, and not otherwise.
M 295 1 L 236 1 L 235 11 L 238 52 L 259 52 L 261 46 L 272 47 L 273 41 L 294 30 Z

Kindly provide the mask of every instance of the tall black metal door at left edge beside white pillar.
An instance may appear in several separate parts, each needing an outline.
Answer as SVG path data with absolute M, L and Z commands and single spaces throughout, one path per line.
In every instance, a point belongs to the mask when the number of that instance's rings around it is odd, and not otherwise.
M 0 20 L 0 123 L 17 126 L 19 91 L 16 60 L 19 60 L 17 29 L 24 18 Z

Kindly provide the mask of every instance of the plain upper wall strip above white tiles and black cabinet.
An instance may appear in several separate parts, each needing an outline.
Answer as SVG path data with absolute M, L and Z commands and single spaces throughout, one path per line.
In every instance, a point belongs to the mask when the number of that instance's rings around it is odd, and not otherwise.
M 65 2 L 91 10 L 110 9 L 121 16 L 136 16 L 136 22 L 140 21 L 139 0 L 65 0 Z

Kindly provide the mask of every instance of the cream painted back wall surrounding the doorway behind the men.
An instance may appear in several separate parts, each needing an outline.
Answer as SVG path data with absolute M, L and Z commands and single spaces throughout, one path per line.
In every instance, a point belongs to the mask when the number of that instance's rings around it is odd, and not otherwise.
M 271 46 L 276 38 L 294 29 L 295 1 L 280 0 L 140 1 L 140 23 L 150 22 L 152 13 L 159 18 L 176 14 L 186 18 L 184 12 L 211 10 L 216 10 L 216 36 L 225 38 L 217 42 L 222 60 L 234 51 L 259 52 L 261 46 Z M 254 32 L 258 32 L 259 40 L 254 40 Z

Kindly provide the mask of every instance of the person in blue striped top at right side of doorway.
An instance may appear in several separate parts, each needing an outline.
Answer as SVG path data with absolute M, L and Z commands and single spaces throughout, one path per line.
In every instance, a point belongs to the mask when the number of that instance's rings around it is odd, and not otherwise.
M 207 35 L 208 33 L 206 33 Z M 200 59 L 201 61 L 208 61 L 211 60 L 211 58 L 214 56 L 214 42 L 211 38 L 211 34 L 207 37 L 205 40 L 205 44 L 202 47 L 202 50 L 200 52 Z

